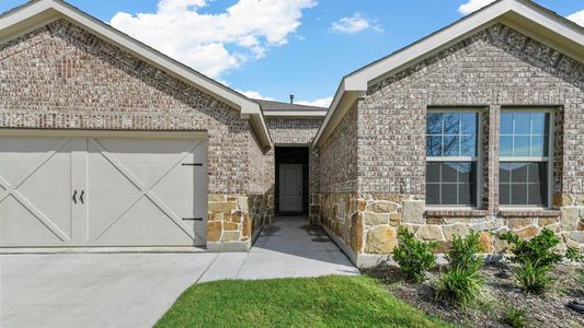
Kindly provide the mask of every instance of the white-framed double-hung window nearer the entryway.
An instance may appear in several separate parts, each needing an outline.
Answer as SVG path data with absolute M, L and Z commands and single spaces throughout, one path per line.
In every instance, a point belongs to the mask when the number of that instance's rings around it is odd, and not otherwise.
M 426 204 L 477 207 L 479 113 L 428 110 Z

